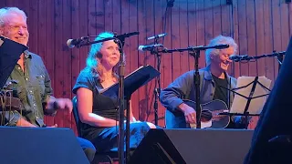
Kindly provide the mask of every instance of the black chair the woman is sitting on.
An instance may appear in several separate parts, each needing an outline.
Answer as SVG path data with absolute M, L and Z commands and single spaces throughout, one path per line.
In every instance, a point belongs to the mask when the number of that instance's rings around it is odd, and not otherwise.
M 73 116 L 76 122 L 76 127 L 78 130 L 78 137 L 82 138 L 81 134 L 81 121 L 79 119 L 78 114 L 78 107 L 77 107 L 77 97 L 73 97 L 72 103 L 73 103 Z M 110 152 L 97 152 L 92 164 L 99 164 L 99 163 L 116 163 L 116 161 L 119 161 L 119 154 L 116 151 L 110 151 Z

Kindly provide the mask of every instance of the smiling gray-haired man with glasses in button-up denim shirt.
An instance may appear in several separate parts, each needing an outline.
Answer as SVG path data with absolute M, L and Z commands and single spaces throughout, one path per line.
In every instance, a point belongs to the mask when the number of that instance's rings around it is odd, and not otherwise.
M 0 36 L 26 46 L 29 37 L 26 18 L 25 12 L 17 7 L 1 8 Z M 5 126 L 46 128 L 44 115 L 54 116 L 58 109 L 72 111 L 70 99 L 53 97 L 51 80 L 41 57 L 29 51 L 20 56 L 5 87 L 13 90 L 13 97 L 19 98 L 23 105 L 20 113 L 16 110 L 0 112 Z M 92 160 L 96 152 L 94 146 L 86 139 L 78 138 L 78 141 L 88 159 Z

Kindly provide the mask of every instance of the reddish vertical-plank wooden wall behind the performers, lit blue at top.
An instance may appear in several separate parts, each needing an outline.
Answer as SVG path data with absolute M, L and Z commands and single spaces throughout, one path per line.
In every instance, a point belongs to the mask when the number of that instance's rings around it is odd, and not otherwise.
M 167 7 L 167 0 L 1 0 L 0 7 L 4 6 L 26 11 L 30 50 L 43 57 L 56 97 L 74 96 L 71 88 L 89 51 L 89 47 L 69 49 L 69 38 L 96 36 L 102 31 L 139 31 L 139 36 L 126 39 L 124 47 L 130 73 L 146 64 L 156 67 L 155 56 L 137 51 L 139 45 L 152 44 L 146 38 L 154 34 L 168 34 L 160 40 L 167 48 L 202 46 L 220 34 L 233 36 L 240 55 L 259 56 L 286 50 L 292 31 L 292 5 L 284 0 L 233 0 L 233 5 L 226 5 L 226 0 L 175 0 L 172 8 Z M 204 66 L 202 52 L 200 67 Z M 162 88 L 191 69 L 193 58 L 186 52 L 162 55 Z M 277 69 L 276 58 L 264 58 L 236 63 L 229 73 L 275 80 Z M 153 80 L 134 93 L 136 118 L 153 121 L 154 88 Z M 159 104 L 161 126 L 164 111 Z M 74 118 L 62 112 L 55 118 L 47 117 L 46 122 L 75 129 Z

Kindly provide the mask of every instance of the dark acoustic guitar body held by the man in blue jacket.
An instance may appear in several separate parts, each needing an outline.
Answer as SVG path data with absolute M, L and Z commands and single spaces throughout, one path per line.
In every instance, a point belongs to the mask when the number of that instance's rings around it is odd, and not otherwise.
M 183 102 L 196 108 L 196 103 L 192 100 L 183 100 Z M 224 101 L 213 100 L 205 104 L 200 105 L 202 109 L 201 114 L 201 128 L 226 128 L 230 122 L 228 115 L 219 115 L 219 113 L 228 112 L 228 108 Z M 190 125 L 191 128 L 195 128 L 195 124 Z

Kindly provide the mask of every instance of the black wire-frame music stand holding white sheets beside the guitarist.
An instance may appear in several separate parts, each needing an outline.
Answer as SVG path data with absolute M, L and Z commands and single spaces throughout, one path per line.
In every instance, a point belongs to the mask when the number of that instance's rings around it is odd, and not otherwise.
M 249 87 L 251 85 L 252 85 L 252 88 L 251 88 L 251 91 L 250 91 L 248 97 L 246 97 L 245 95 L 242 95 L 242 94 L 240 94 L 240 93 L 238 93 L 238 92 L 235 91 L 235 90 L 238 90 L 238 89 L 242 89 L 242 88 L 245 88 L 245 87 Z M 247 101 L 246 101 L 244 113 L 223 112 L 223 113 L 220 113 L 220 115 L 228 115 L 229 117 L 232 117 L 232 116 L 245 116 L 245 128 L 247 129 L 247 127 L 248 127 L 248 117 L 250 117 L 250 116 L 259 116 L 260 115 L 260 114 L 250 114 L 249 113 L 248 108 L 250 106 L 251 101 L 253 99 L 255 99 L 255 98 L 258 98 L 258 97 L 266 97 L 266 96 L 269 95 L 269 94 L 264 94 L 264 95 L 260 95 L 260 96 L 254 97 L 256 85 L 259 85 L 259 86 L 265 88 L 269 92 L 271 91 L 269 88 L 267 88 L 266 86 L 264 86 L 260 81 L 258 81 L 258 77 L 255 77 L 255 79 L 252 82 L 248 83 L 247 85 L 245 85 L 243 87 L 236 87 L 236 88 L 233 88 L 233 89 L 229 89 L 229 88 L 223 87 L 224 89 L 227 89 L 229 92 L 233 92 L 233 93 L 239 95 L 240 97 L 245 97 L 245 99 L 247 99 Z M 229 99 L 230 99 L 230 95 L 231 94 L 229 93 Z M 229 108 L 231 108 L 231 107 L 229 107 Z

